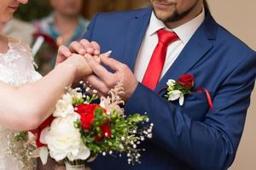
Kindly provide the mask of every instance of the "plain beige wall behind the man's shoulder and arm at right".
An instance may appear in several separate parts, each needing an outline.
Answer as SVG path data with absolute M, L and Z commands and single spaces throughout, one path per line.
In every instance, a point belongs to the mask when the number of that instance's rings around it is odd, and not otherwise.
M 208 0 L 212 15 L 237 37 L 256 49 L 256 1 Z M 256 64 L 255 64 L 256 65 Z M 254 88 L 247 122 L 236 160 L 230 170 L 256 169 L 256 90 Z

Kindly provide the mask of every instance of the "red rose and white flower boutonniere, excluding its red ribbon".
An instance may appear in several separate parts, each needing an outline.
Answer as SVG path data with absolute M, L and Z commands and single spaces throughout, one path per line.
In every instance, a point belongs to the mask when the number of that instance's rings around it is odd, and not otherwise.
M 191 94 L 191 89 L 195 84 L 195 77 L 190 74 L 184 74 L 175 80 L 169 79 L 166 82 L 168 88 L 167 93 L 164 95 L 169 101 L 174 101 L 178 99 L 179 105 L 183 105 L 184 96 L 186 94 Z

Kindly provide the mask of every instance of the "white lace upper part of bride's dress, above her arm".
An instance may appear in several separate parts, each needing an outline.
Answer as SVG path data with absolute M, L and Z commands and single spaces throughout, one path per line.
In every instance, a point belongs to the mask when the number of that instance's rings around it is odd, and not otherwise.
M 26 44 L 9 37 L 9 51 L 0 54 L 0 81 L 20 86 L 41 78 L 35 71 L 32 49 Z

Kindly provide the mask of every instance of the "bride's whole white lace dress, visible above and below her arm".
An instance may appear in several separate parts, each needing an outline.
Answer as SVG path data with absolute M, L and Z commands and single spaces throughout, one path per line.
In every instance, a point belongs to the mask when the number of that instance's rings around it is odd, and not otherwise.
M 0 54 L 0 81 L 14 87 L 37 81 L 41 76 L 33 66 L 31 48 L 25 42 L 9 37 L 9 51 Z M 28 167 L 20 167 L 15 156 L 8 156 L 8 146 L 14 135 L 15 131 L 0 125 L 0 170 L 32 169 L 32 163 Z

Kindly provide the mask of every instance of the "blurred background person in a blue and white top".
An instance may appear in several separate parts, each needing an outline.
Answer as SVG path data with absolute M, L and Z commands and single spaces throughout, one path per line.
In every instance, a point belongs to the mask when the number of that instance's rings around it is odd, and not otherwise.
M 50 0 L 50 4 L 54 11 L 34 23 L 36 30 L 53 37 L 58 45 L 67 45 L 78 39 L 89 24 L 89 21 L 80 15 L 83 1 Z

